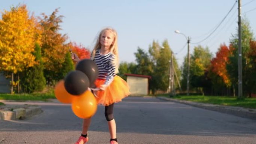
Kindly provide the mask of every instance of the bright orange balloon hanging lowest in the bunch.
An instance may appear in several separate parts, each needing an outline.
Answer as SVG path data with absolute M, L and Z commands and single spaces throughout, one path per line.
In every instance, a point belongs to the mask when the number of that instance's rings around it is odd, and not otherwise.
M 77 117 L 87 119 L 97 111 L 97 101 L 92 92 L 87 90 L 82 95 L 74 98 L 71 108 Z

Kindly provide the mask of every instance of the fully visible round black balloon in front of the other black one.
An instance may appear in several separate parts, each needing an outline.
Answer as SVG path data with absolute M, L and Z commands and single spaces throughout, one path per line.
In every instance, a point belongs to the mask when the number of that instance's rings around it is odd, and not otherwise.
M 88 89 L 89 79 L 81 71 L 70 71 L 65 77 L 64 87 L 71 95 L 81 95 Z

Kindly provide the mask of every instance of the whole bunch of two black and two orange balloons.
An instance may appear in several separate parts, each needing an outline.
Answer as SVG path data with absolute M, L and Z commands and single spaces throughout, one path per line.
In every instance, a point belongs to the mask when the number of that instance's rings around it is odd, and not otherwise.
M 55 97 L 62 103 L 70 104 L 73 113 L 82 119 L 93 116 L 97 110 L 97 102 L 88 88 L 94 86 L 98 77 L 97 64 L 91 59 L 83 59 L 70 71 L 64 80 L 60 80 L 54 88 Z

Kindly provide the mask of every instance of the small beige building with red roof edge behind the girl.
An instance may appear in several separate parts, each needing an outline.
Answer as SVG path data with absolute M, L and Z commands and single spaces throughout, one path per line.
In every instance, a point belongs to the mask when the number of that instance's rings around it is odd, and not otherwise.
M 149 79 L 151 76 L 140 74 L 125 74 L 127 83 L 130 87 L 131 95 L 148 95 L 149 94 Z

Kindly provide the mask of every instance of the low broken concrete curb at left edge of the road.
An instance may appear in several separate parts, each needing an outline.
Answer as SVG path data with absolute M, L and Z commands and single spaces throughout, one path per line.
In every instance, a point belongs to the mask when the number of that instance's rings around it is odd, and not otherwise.
M 25 119 L 42 113 L 42 108 L 36 105 L 2 106 L 0 107 L 0 120 Z

